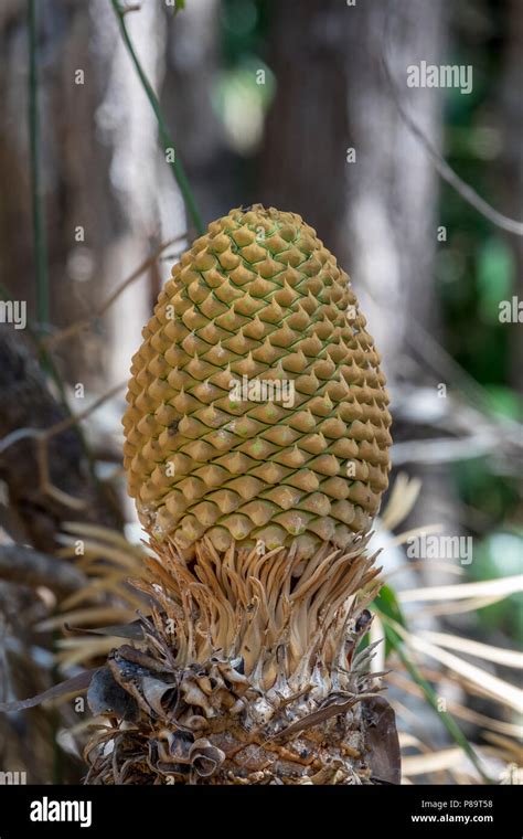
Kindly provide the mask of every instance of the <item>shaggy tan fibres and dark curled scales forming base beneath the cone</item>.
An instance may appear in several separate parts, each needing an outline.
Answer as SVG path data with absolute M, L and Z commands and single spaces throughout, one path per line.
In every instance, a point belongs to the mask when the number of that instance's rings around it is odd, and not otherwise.
M 378 588 L 365 543 L 303 562 L 203 539 L 186 561 L 151 539 L 150 578 L 136 585 L 152 614 L 89 688 L 107 720 L 86 748 L 87 783 L 387 782 L 369 736 L 383 702 L 374 645 L 357 651 Z

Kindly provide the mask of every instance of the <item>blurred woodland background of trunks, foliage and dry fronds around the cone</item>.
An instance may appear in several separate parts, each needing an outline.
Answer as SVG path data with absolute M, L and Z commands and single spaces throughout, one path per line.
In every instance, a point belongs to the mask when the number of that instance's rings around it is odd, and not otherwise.
M 3 0 L 0 47 L 0 702 L 104 651 L 72 609 L 132 617 L 130 358 L 199 214 L 259 201 L 317 230 L 383 355 L 405 779 L 521 783 L 523 4 Z M 410 87 L 420 62 L 471 91 Z M 470 555 L 408 550 L 431 532 Z M 0 771 L 76 780 L 87 716 L 1 715 Z

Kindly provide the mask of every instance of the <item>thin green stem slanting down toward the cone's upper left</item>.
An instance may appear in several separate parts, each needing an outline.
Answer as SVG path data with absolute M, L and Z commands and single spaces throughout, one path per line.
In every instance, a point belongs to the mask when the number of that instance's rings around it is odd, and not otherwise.
M 141 85 L 147 94 L 147 98 L 149 99 L 152 110 L 154 111 L 154 116 L 158 121 L 158 128 L 160 131 L 160 138 L 163 146 L 163 150 L 168 153 L 170 151 L 174 152 L 174 160 L 169 162 L 169 166 L 171 167 L 174 178 L 177 179 L 178 185 L 180 188 L 180 192 L 182 193 L 183 200 L 185 202 L 185 208 L 188 211 L 188 214 L 198 232 L 199 235 L 202 235 L 204 233 L 204 226 L 202 222 L 202 216 L 200 215 L 200 211 L 196 206 L 196 202 L 194 200 L 194 195 L 192 193 L 191 184 L 189 183 L 188 177 L 185 174 L 185 170 L 183 168 L 183 164 L 180 160 L 180 157 L 178 152 L 174 151 L 174 140 L 172 139 L 172 136 L 169 131 L 169 128 L 167 127 L 166 119 L 163 117 L 163 114 L 160 108 L 160 103 L 158 100 L 158 97 L 152 89 L 151 83 L 149 82 L 148 77 L 146 76 L 146 73 L 143 71 L 143 67 L 141 66 L 138 55 L 136 54 L 132 41 L 130 40 L 129 32 L 127 31 L 126 22 L 125 22 L 125 14 L 126 11 L 129 11 L 129 9 L 125 9 L 120 6 L 118 0 L 110 0 L 113 4 L 113 9 L 115 10 L 115 14 L 118 20 L 118 25 L 121 32 L 121 36 L 124 39 L 124 43 L 127 47 L 127 51 L 131 57 L 131 61 L 135 65 L 136 72 L 138 73 L 138 76 L 140 78 Z

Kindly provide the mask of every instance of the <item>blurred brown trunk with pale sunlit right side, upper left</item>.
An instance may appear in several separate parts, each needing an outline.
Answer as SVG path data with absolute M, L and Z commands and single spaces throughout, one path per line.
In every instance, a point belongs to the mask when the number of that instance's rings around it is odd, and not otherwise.
M 158 148 L 150 104 L 107 0 L 39 0 L 40 121 L 51 318 L 64 327 L 93 314 L 161 233 L 183 232 L 177 185 Z M 0 267 L 34 318 L 28 137 L 26 2 L 0 11 Z M 126 17 L 153 86 L 164 66 L 166 10 L 145 2 Z M 160 208 L 167 222 L 160 229 Z M 147 319 L 154 269 L 104 317 L 58 350 L 71 383 L 100 392 L 127 375 Z

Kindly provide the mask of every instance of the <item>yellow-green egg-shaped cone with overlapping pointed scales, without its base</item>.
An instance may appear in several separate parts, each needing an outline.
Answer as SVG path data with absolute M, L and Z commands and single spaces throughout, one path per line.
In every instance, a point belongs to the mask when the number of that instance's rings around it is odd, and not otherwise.
M 369 529 L 387 394 L 349 277 L 295 213 L 232 210 L 172 270 L 124 418 L 142 523 L 192 556 L 262 542 L 308 557 Z

